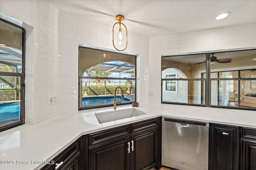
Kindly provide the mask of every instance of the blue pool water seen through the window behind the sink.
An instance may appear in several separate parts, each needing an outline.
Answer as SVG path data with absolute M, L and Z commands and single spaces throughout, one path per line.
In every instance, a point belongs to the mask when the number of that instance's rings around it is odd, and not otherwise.
M 122 99 L 121 96 L 116 96 L 116 100 L 119 100 L 122 103 L 131 102 L 128 98 Z M 83 98 L 83 106 L 95 106 L 95 105 L 105 105 L 105 104 L 113 104 L 113 103 L 114 103 L 114 96 Z

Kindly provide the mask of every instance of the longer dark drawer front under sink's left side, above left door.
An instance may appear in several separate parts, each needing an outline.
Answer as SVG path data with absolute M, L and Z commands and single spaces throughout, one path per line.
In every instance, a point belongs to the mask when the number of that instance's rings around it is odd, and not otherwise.
M 100 145 L 102 143 L 113 141 L 115 139 L 119 139 L 121 137 L 125 137 L 128 135 L 130 135 L 129 125 L 124 125 L 121 127 L 90 133 L 88 137 L 89 147 Z

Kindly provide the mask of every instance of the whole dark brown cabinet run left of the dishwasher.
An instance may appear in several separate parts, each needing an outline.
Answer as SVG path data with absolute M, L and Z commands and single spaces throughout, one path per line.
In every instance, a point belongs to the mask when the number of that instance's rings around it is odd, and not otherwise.
M 150 170 L 161 166 L 161 117 L 82 135 L 41 170 Z

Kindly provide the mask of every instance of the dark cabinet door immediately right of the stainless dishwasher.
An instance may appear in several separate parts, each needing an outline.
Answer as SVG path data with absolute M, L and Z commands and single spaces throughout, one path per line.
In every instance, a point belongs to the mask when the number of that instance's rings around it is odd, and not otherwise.
M 210 124 L 209 170 L 239 169 L 239 127 Z

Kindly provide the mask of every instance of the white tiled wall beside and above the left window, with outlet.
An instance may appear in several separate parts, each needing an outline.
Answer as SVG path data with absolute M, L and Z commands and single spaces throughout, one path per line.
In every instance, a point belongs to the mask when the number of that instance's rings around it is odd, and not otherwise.
M 55 117 L 58 106 L 47 106 L 47 96 L 58 95 L 58 9 L 47 1 L 1 0 L 0 11 L 26 29 L 26 123 Z

